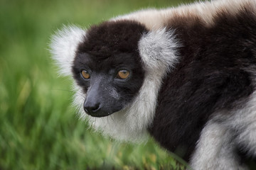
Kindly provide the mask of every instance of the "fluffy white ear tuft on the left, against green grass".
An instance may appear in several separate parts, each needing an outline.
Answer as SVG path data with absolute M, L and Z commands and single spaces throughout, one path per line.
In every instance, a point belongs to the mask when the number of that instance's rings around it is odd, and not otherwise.
M 86 32 L 76 26 L 64 26 L 51 38 L 50 53 L 55 64 L 59 67 L 59 74 L 70 75 L 75 52 L 78 45 L 85 38 Z

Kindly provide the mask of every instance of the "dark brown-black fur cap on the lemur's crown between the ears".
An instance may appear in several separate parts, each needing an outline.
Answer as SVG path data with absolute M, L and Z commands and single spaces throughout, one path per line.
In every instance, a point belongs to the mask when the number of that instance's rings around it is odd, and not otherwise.
M 105 60 L 119 53 L 133 53 L 139 58 L 138 41 L 147 30 L 135 21 L 105 22 L 87 30 L 85 41 L 78 47 L 78 53 L 86 52 Z M 137 59 L 140 60 L 140 59 Z

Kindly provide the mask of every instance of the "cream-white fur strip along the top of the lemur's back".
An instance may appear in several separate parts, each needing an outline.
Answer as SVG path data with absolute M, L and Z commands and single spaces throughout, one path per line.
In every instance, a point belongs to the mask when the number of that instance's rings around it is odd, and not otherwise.
M 213 18 L 220 11 L 228 13 L 237 13 L 242 6 L 250 6 L 256 11 L 255 0 L 212 0 L 212 1 L 198 1 L 193 4 L 181 5 L 176 8 L 163 8 L 163 9 L 143 9 L 135 11 L 123 16 L 112 18 L 114 21 L 118 20 L 133 20 L 143 23 L 149 30 L 158 30 L 164 28 L 166 23 L 170 23 L 170 18 L 177 16 L 184 17 L 197 17 L 206 24 L 206 26 L 213 26 Z

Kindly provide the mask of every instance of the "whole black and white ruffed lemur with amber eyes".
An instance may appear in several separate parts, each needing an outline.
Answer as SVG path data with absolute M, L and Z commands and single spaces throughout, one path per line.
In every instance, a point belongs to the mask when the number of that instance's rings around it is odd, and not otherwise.
M 53 36 L 60 74 L 92 128 L 150 134 L 192 169 L 247 169 L 256 157 L 256 1 L 146 9 Z

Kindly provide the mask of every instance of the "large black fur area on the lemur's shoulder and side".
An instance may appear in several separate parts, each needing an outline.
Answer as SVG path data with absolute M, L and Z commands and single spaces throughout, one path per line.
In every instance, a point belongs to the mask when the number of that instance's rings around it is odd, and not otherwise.
M 255 89 L 256 18 L 246 9 L 231 17 L 223 11 L 210 28 L 194 16 L 174 18 L 169 27 L 181 58 L 163 81 L 149 132 L 188 161 L 213 113 L 241 107 Z

